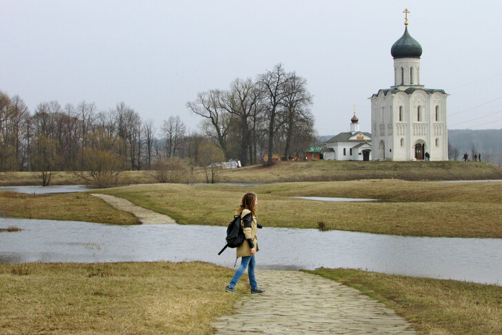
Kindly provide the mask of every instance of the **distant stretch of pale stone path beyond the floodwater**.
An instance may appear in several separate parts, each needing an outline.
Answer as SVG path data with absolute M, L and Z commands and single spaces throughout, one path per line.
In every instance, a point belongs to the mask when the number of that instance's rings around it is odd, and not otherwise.
M 136 216 L 137 219 L 143 223 L 143 225 L 165 225 L 166 223 L 176 223 L 176 221 L 170 218 L 170 216 L 139 207 L 138 205 L 134 205 L 134 203 L 123 198 L 119 198 L 118 196 L 111 196 L 109 194 L 91 195 L 103 199 L 113 207 L 117 208 L 117 210 L 123 210 L 124 212 L 131 213 Z

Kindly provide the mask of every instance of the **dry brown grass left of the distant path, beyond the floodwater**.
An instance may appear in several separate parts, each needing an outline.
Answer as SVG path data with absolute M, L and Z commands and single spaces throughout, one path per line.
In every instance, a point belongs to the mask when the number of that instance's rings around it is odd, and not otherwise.
M 34 195 L 0 191 L 0 208 L 3 216 L 26 219 L 139 224 L 132 214 L 86 193 Z

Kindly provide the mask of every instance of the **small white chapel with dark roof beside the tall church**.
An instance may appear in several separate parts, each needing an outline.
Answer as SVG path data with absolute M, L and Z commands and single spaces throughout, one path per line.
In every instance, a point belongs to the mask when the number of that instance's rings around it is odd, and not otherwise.
M 356 112 L 350 119 L 350 132 L 341 132 L 326 141 L 322 153 L 326 161 L 371 160 L 371 134 L 359 130 Z

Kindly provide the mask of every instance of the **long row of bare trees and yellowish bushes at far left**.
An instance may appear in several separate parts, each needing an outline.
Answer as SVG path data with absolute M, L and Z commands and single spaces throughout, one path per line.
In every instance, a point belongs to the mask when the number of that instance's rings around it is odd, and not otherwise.
M 37 105 L 31 114 L 19 97 L 0 92 L 0 171 L 150 170 L 159 159 L 178 156 L 198 162 L 205 136 L 187 133 L 179 116 L 162 127 L 142 121 L 138 112 L 117 103 L 98 112 L 94 103 L 57 101 Z M 196 148 L 197 147 L 197 148 Z

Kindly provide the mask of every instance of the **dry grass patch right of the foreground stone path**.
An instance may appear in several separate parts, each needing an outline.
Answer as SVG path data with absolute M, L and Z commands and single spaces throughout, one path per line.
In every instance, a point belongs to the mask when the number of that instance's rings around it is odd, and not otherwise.
M 419 334 L 502 334 L 502 287 L 346 269 L 312 271 L 361 290 Z

